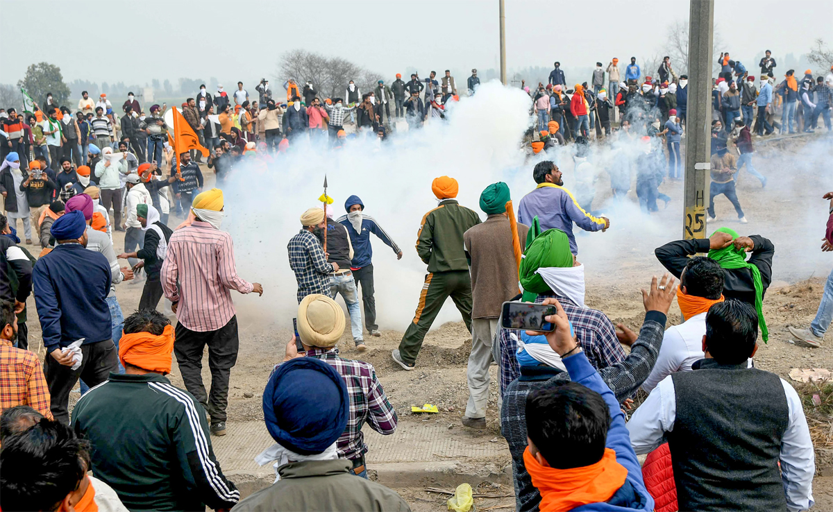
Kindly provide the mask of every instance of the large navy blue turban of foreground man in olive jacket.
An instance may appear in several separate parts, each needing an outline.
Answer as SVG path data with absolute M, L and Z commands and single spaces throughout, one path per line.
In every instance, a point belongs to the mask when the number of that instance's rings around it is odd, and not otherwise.
M 344 432 L 349 415 L 342 375 L 314 357 L 282 363 L 263 390 L 263 418 L 269 434 L 300 455 L 327 450 Z

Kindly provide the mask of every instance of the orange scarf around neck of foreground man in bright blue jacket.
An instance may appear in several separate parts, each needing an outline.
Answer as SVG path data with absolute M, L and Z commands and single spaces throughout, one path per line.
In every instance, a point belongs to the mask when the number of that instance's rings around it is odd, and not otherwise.
M 573 510 L 588 503 L 603 503 L 611 499 L 625 484 L 627 469 L 616 462 L 616 452 L 605 449 L 596 464 L 569 470 L 557 470 L 538 464 L 529 447 L 523 452 L 523 463 L 535 485 L 541 491 L 541 512 Z

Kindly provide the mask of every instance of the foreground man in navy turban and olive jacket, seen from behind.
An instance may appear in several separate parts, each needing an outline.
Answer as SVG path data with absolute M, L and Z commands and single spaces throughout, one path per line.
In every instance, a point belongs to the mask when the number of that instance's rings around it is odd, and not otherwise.
M 339 458 L 337 440 L 348 426 L 350 405 L 347 385 L 332 365 L 299 357 L 277 366 L 263 391 L 263 416 L 275 444 L 257 456 L 262 464 L 277 460 L 277 478 L 234 510 L 410 511 L 397 493 L 357 479 L 352 462 Z

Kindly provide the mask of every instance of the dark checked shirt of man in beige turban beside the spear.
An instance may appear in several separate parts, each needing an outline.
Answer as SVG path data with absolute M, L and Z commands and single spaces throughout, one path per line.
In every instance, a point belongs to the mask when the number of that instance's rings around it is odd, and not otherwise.
M 327 263 L 321 242 L 310 231 L 302 229 L 287 245 L 289 266 L 298 281 L 298 302 L 313 293 L 330 296 L 332 265 Z

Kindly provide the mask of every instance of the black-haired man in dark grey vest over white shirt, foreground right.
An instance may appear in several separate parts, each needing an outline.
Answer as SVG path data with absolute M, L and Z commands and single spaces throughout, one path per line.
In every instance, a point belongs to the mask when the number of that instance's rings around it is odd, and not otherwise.
M 778 375 L 747 365 L 757 325 L 744 302 L 711 306 L 706 359 L 661 380 L 628 422 L 638 454 L 668 440 L 680 510 L 813 506 L 816 466 L 801 398 Z

